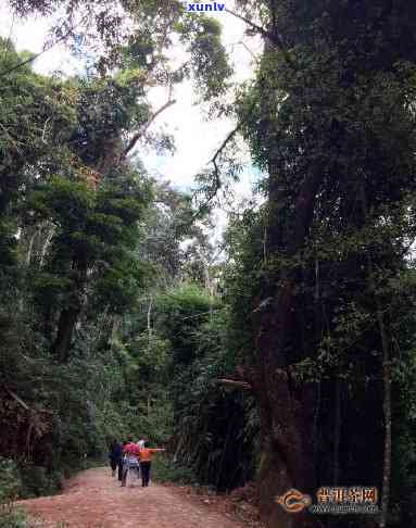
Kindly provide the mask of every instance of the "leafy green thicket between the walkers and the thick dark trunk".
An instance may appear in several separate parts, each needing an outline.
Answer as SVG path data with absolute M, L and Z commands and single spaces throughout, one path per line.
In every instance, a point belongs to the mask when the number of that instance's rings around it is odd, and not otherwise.
M 243 485 L 253 475 L 259 424 L 250 427 L 250 398 L 217 385 L 236 366 L 227 349 L 227 310 L 194 285 L 160 297 L 156 306 L 157 327 L 172 345 L 175 464 L 218 490 Z

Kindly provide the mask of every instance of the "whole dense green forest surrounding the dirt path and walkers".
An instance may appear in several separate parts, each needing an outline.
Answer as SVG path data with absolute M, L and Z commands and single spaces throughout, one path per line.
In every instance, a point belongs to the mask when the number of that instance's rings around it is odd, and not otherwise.
M 254 482 L 268 528 L 416 526 L 416 4 L 7 3 L 90 60 L 41 75 L 0 39 L 0 500 L 133 433 L 174 479 Z M 263 40 L 247 83 L 230 18 Z M 151 125 L 184 80 L 235 123 L 192 192 L 141 159 L 174 150 Z M 262 177 L 218 251 L 242 144 Z M 379 514 L 276 501 L 322 486 L 377 487 Z

